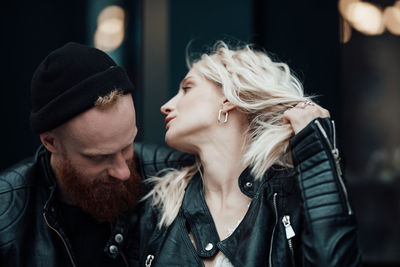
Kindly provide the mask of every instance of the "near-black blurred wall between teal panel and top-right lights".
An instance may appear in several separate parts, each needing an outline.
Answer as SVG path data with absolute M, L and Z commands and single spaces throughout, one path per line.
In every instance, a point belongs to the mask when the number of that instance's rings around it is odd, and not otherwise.
M 254 0 L 255 41 L 288 63 L 305 93 L 339 120 L 338 11 L 336 1 Z

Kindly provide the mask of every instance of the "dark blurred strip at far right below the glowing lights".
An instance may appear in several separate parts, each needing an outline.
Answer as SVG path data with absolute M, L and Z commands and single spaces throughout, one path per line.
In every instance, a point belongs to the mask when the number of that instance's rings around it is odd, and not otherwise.
M 364 260 L 400 264 L 400 36 L 341 45 L 343 151 Z M 398 266 L 398 265 L 397 265 Z

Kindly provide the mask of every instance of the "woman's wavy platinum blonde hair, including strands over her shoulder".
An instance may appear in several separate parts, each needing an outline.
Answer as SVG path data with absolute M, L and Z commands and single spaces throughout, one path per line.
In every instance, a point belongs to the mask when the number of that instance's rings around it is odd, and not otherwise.
M 255 179 L 261 179 L 274 164 L 292 166 L 289 139 L 294 132 L 284 123 L 283 113 L 308 98 L 287 64 L 274 62 L 250 45 L 232 49 L 218 41 L 210 53 L 197 60 L 187 56 L 187 65 L 217 84 L 227 100 L 246 114 L 249 145 L 243 160 L 250 163 Z M 144 199 L 152 197 L 152 205 L 160 210 L 159 227 L 174 221 L 185 188 L 200 167 L 197 161 L 193 166 L 148 179 L 154 187 Z

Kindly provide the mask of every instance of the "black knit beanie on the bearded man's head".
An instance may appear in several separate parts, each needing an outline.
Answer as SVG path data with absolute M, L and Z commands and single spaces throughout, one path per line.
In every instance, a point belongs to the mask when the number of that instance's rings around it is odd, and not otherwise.
M 99 96 L 133 92 L 125 70 L 103 51 L 67 43 L 37 67 L 31 83 L 31 126 L 43 133 L 92 108 Z

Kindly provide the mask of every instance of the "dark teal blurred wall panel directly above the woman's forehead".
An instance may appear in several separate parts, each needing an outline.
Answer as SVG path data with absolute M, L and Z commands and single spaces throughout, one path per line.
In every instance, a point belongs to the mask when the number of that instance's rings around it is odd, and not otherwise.
M 252 41 L 251 1 L 170 1 L 170 83 L 173 96 L 188 69 L 185 51 L 201 52 L 220 39 Z

